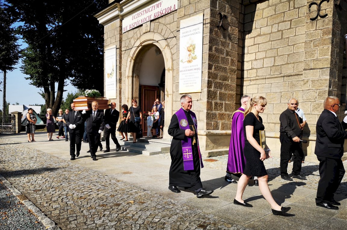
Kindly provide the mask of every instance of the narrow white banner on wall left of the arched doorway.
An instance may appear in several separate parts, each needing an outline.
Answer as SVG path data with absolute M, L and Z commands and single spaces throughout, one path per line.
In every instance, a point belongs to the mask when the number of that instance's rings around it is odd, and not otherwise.
M 117 98 L 117 48 L 105 50 L 105 97 Z

